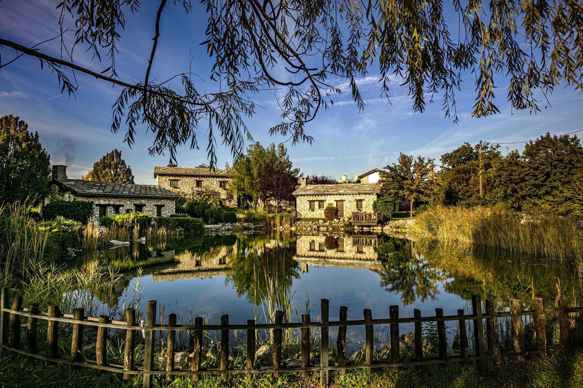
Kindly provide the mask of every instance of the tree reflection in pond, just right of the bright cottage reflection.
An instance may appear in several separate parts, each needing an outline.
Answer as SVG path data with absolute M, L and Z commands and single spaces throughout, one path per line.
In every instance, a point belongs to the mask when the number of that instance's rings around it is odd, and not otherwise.
M 378 272 L 381 287 L 389 292 L 399 292 L 404 306 L 417 299 L 422 302 L 428 298 L 433 300 L 438 294 L 438 282 L 445 280 L 441 270 L 416 254 L 414 244 L 409 240 L 382 236 L 377 248 L 383 266 Z

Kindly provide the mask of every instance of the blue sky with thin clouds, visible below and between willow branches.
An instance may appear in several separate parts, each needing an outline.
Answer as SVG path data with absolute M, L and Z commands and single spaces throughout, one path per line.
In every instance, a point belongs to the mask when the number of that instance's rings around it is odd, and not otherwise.
M 0 36 L 26 46 L 57 36 L 55 6 L 58 2 L 1 1 Z M 203 6 L 194 3 L 194 12 L 185 16 L 180 5 L 168 2 L 160 22 L 159 44 L 150 78 L 167 79 L 187 71 L 192 56 L 192 71 L 205 80 L 196 80 L 199 90 L 219 90 L 220 85 L 209 79 L 213 60 L 206 54 L 206 47 L 199 45 L 205 40 L 206 15 Z M 138 82 L 145 76 L 158 4 L 146 0 L 142 12 L 136 15 L 127 13 L 126 28 L 118 44 L 121 53 L 116 59 L 123 80 Z M 60 45 L 55 40 L 39 48 L 48 55 L 58 56 Z M 15 52 L 5 47 L 1 54 L 5 63 L 14 57 Z M 75 55 L 78 64 L 97 72 L 109 66 L 107 62 L 91 62 L 80 47 L 76 48 Z M 131 165 L 136 183 L 153 184 L 154 165 L 168 163 L 168 156 L 152 157 L 147 152 L 153 135 L 146 134 L 145 128 L 138 131 L 136 143 L 130 149 L 123 143 L 125 132 L 111 133 L 111 107 L 121 88 L 79 73 L 77 79 L 79 90 L 75 97 L 59 96 L 61 87 L 57 84 L 57 77 L 47 68 L 41 70 L 37 59 L 24 56 L 0 70 L 0 115 L 20 116 L 29 124 L 30 130 L 38 131 L 41 142 L 51 154 L 52 163 L 69 164 L 71 178 L 85 175 L 94 161 L 117 148 Z M 394 163 L 399 152 L 438 160 L 441 154 L 463 142 L 515 142 L 535 139 L 546 132 L 560 135 L 583 129 L 583 96 L 570 88 L 557 87 L 550 97 L 551 106 L 544 109 L 545 104 L 541 103 L 543 110 L 536 115 L 528 111 L 511 115 L 510 104 L 506 102 L 508 82 L 498 77 L 495 104 L 500 114 L 471 118 L 475 86 L 473 76 L 468 75 L 462 91 L 458 92 L 459 123 L 454 124 L 452 119 L 443 117 L 439 96 L 436 103 L 428 105 L 426 112 L 419 114 L 412 111 L 413 104 L 406 87 L 393 82 L 392 104 L 389 105 L 379 98 L 377 81 L 378 73 L 374 68 L 371 68 L 370 75 L 359 81 L 366 100 L 365 110 L 359 112 L 352 103 L 346 81 L 331 80 L 343 93 L 333 97 L 333 107 L 319 112 L 317 118 L 308 124 L 307 133 L 314 137 L 314 143 L 311 146 L 286 143 L 294 167 L 300 168 L 304 174 L 339 178 L 342 174 L 353 176 Z M 273 92 L 259 94 L 255 100 L 259 105 L 257 112 L 246 119 L 254 139 L 262 144 L 287 140 L 281 136 L 269 136 L 269 128 L 280 122 Z M 197 135 L 199 150 L 190 150 L 188 146 L 178 150 L 178 164 L 182 167 L 207 162 L 207 134 L 201 129 Z M 510 147 L 522 149 L 521 144 Z M 230 151 L 219 146 L 217 160 L 218 167 L 223 167 L 225 162 L 231 163 Z

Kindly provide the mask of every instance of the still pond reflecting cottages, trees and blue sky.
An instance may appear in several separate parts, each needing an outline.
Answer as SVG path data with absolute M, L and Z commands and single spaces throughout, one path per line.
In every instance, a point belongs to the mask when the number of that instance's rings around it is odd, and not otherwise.
M 388 318 L 389 305 L 399 305 L 402 317 L 415 308 L 433 316 L 438 307 L 455 315 L 470 311 L 472 294 L 503 309 L 509 298 L 529 308 L 534 294 L 550 307 L 559 293 L 571 302 L 582 291 L 573 269 L 553 260 L 385 234 L 206 235 L 87 252 L 78 265 L 114 279 L 92 290 L 93 314 L 113 318 L 134 304 L 143 311 L 154 299 L 164 316 L 176 313 L 181 322 L 203 316 L 220 323 L 222 314 L 231 323 L 266 322 L 273 306 L 294 322 L 308 312 L 316 320 L 321 298 L 330 301 L 331 320 L 340 306 L 348 319 L 363 319 L 364 308 Z

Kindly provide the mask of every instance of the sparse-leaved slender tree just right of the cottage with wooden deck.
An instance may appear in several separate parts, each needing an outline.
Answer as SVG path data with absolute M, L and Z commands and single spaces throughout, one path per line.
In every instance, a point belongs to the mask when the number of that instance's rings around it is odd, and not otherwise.
M 416 201 L 430 201 L 436 195 L 436 172 L 434 159 L 401 153 L 398 164 L 387 165 L 381 174 L 381 196 L 388 199 L 408 199 L 411 203 L 410 216 L 413 218 L 413 205 Z

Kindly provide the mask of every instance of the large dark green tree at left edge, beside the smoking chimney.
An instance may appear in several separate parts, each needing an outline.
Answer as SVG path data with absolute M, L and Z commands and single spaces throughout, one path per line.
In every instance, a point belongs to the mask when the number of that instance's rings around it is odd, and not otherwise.
M 20 117 L 0 117 L 0 203 L 48 193 L 50 155 Z

